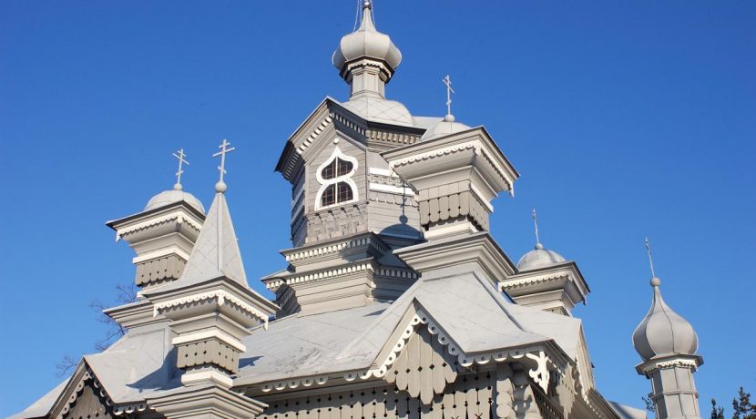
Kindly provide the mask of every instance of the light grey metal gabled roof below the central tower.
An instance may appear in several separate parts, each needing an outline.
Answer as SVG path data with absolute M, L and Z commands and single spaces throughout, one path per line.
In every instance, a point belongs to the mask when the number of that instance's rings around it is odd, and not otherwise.
M 422 310 L 465 354 L 552 345 L 575 359 L 580 321 L 519 307 L 473 273 L 419 280 L 392 304 L 308 316 L 291 315 L 244 339 L 234 385 L 295 380 L 375 366 L 405 313 Z M 555 344 L 556 342 L 556 344 Z M 563 356 L 564 356 L 563 355 Z

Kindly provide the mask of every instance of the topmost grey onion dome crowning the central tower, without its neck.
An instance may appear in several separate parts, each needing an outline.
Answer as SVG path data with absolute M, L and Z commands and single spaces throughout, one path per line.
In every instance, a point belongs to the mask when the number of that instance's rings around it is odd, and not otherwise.
M 402 53 L 393 45 L 388 35 L 375 29 L 370 1 L 363 5 L 363 21 L 360 27 L 342 37 L 342 42 L 333 53 L 333 66 L 343 70 L 346 63 L 361 57 L 374 58 L 386 63 L 393 71 L 402 62 Z

